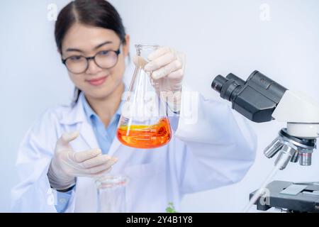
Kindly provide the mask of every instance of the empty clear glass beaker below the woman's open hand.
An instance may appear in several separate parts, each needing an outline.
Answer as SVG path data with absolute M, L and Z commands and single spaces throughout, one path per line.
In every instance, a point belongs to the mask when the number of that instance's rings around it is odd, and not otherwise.
M 126 212 L 126 185 L 128 177 L 103 176 L 96 179 L 97 212 L 98 213 L 125 213 Z

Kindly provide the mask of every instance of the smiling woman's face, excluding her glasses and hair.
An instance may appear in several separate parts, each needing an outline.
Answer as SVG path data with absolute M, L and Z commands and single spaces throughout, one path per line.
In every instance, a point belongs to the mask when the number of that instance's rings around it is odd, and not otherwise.
M 114 67 L 103 69 L 89 60 L 86 71 L 80 74 L 69 72 L 74 85 L 82 90 L 91 99 L 103 99 L 116 90 L 123 82 L 125 71 L 125 57 L 128 56 L 129 36 L 125 37 L 126 44 L 121 44 L 118 35 L 110 29 L 86 26 L 75 23 L 62 42 L 62 59 L 72 57 L 77 60 L 79 56 L 93 57 L 97 53 L 105 55 L 109 50 L 118 50 L 118 62 Z

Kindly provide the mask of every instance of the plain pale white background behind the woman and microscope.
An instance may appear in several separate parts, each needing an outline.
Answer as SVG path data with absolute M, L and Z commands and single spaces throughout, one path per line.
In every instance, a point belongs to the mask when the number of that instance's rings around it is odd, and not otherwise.
M 17 183 L 18 144 L 45 109 L 68 104 L 72 83 L 60 63 L 48 4 L 60 11 L 68 1 L 0 3 L 0 211 L 10 211 Z M 185 82 L 208 98 L 218 98 L 211 82 L 229 72 L 247 79 L 259 70 L 289 89 L 319 102 L 319 1 L 317 0 L 113 0 L 132 44 L 169 45 L 187 55 Z M 270 20 L 261 18 L 269 6 Z M 134 47 L 131 46 L 134 54 Z M 296 111 L 303 111 L 298 109 Z M 257 159 L 238 184 L 185 196 L 181 211 L 241 211 L 248 194 L 273 167 L 262 150 L 283 123 L 251 123 L 258 135 Z M 319 181 L 319 154 L 313 166 L 289 165 L 276 179 Z

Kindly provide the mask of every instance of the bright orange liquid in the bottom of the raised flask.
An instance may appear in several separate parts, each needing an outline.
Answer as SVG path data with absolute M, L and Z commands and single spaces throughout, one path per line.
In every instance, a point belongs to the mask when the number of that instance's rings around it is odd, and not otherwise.
M 132 148 L 159 148 L 172 138 L 169 120 L 161 118 L 151 126 L 132 125 L 120 126 L 117 132 L 118 140 Z

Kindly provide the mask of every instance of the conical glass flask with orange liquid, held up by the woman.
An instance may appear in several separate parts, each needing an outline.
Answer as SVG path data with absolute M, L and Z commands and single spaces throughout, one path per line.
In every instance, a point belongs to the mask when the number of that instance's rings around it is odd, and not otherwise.
M 159 148 L 169 143 L 172 131 L 167 117 L 167 104 L 161 99 L 160 84 L 146 72 L 147 56 L 157 45 L 135 45 L 138 62 L 118 124 L 117 137 L 132 148 Z M 156 87 L 156 89 L 155 89 Z

